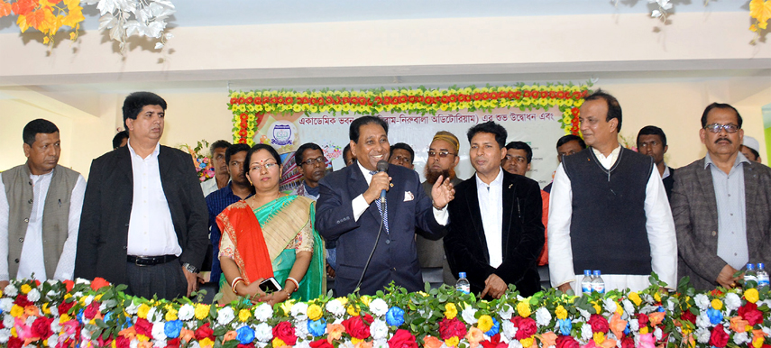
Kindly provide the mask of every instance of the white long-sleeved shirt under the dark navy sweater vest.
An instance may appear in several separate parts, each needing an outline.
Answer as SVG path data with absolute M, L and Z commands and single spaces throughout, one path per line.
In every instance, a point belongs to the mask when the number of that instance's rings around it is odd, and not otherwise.
M 605 169 L 610 169 L 619 158 L 620 147 L 608 157 L 592 148 L 597 160 Z M 650 243 L 651 268 L 668 288 L 677 287 L 677 237 L 675 221 L 664 184 L 656 166 L 651 168 L 646 185 L 645 213 L 647 239 Z M 571 283 L 576 294 L 581 293 L 583 274 L 574 274 L 573 249 L 570 241 L 570 220 L 573 215 L 573 188 L 570 178 L 564 172 L 562 163 L 557 167 L 552 193 L 549 200 L 549 276 L 552 286 Z M 609 212 L 605 218 L 618 218 Z M 598 217 L 601 218 L 601 217 Z M 602 241 L 597 241 L 602 243 Z M 602 274 L 605 290 L 630 288 L 639 291 L 650 286 L 647 275 Z

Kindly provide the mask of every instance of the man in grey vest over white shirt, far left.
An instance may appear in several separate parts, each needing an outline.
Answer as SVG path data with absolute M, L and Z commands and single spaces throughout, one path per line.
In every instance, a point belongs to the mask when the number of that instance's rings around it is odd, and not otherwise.
M 0 180 L 0 288 L 15 279 L 72 279 L 86 180 L 60 166 L 59 128 L 24 126 L 27 162 Z

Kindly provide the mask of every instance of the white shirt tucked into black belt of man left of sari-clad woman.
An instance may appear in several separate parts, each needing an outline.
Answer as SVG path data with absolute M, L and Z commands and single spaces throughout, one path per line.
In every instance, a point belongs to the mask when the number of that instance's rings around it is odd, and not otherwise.
M 144 159 L 133 151 L 131 141 L 126 146 L 131 153 L 133 173 L 133 203 L 126 251 L 133 256 L 179 256 L 182 248 L 161 185 L 158 166 L 161 144 L 156 144 L 155 151 Z

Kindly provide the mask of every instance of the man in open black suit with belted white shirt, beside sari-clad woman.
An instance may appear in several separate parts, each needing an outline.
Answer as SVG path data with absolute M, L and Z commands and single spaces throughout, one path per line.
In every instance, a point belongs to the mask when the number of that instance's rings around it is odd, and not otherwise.
M 189 296 L 207 252 L 208 215 L 190 155 L 161 146 L 166 101 L 124 101 L 128 145 L 91 163 L 75 277 L 126 284 L 143 298 Z

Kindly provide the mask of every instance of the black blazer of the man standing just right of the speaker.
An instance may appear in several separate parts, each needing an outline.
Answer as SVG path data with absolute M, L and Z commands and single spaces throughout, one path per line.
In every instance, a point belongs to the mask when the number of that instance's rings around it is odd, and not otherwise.
M 544 248 L 541 190 L 533 179 L 503 171 L 503 263 L 490 265 L 490 253 L 482 226 L 476 175 L 455 188 L 450 202 L 450 224 L 445 235 L 447 261 L 454 274 L 466 272 L 473 293 L 484 289 L 484 280 L 495 273 L 517 286 L 528 297 L 540 290 L 538 255 Z

